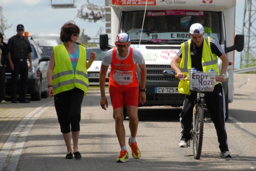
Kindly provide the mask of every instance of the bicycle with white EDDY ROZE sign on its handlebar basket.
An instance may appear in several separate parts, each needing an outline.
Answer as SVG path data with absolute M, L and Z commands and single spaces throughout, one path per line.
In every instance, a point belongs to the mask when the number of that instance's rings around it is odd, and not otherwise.
M 204 118 L 204 92 L 211 92 L 214 89 L 218 72 L 195 72 L 188 70 L 188 77 L 180 80 L 189 81 L 189 89 L 197 91 L 195 106 L 193 109 L 193 120 L 191 127 L 191 138 L 188 142 L 193 141 L 193 154 L 195 159 L 199 159 L 203 145 L 204 122 L 212 122 L 211 118 Z M 177 75 L 175 75 L 177 77 Z

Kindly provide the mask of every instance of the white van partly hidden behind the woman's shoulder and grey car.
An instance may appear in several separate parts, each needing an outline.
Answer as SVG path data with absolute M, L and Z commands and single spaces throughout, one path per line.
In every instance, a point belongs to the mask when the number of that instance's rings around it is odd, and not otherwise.
M 52 47 L 61 44 L 60 35 L 54 33 L 31 33 L 29 36 L 38 44 L 45 56 L 51 57 Z

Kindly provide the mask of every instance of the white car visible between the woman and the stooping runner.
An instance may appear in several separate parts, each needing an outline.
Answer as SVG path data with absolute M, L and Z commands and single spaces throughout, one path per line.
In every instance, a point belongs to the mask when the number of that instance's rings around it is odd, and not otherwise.
M 96 52 L 96 59 L 92 63 L 92 66 L 87 69 L 89 85 L 99 85 L 100 79 L 100 66 L 102 59 L 107 51 L 101 51 L 100 47 L 85 47 L 86 50 L 86 59 L 87 61 L 90 59 L 91 51 Z M 110 74 L 110 66 L 108 68 L 108 72 L 106 74 L 106 85 L 108 85 L 108 77 Z

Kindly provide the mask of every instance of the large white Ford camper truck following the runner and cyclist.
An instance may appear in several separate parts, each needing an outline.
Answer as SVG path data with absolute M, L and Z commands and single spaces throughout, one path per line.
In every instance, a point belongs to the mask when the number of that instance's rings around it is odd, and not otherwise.
M 147 66 L 147 102 L 144 106 L 183 105 L 184 95 L 178 92 L 179 80 L 170 62 L 180 44 L 190 39 L 191 24 L 201 22 L 205 27 L 204 36 L 213 37 L 220 43 L 230 64 L 234 62 L 231 51 L 244 48 L 244 35 L 234 36 L 236 0 L 111 0 L 110 3 L 112 46 L 108 44 L 108 35 L 101 34 L 100 48 L 102 51 L 112 48 L 119 33 L 130 35 L 131 47 L 143 54 Z M 228 103 L 233 101 L 234 95 L 233 70 L 233 65 L 228 66 L 226 81 L 222 84 L 226 120 Z

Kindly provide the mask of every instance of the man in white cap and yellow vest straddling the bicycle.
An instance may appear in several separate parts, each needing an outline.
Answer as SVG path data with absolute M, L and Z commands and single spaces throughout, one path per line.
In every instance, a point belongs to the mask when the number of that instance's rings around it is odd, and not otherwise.
M 190 70 L 193 67 L 197 71 L 204 72 L 208 72 L 212 68 L 215 72 L 218 72 L 216 81 L 224 81 L 229 60 L 220 44 L 211 37 L 204 37 L 204 27 L 199 23 L 191 25 L 189 35 L 191 39 L 180 45 L 180 50 L 171 61 L 171 67 L 177 73 L 178 78 L 185 78 L 188 75 L 188 69 Z M 222 60 L 220 73 L 217 56 Z M 180 93 L 186 94 L 180 113 L 182 130 L 179 147 L 188 147 L 188 140 L 191 138 L 192 113 L 197 92 L 190 91 L 189 82 L 183 80 L 180 81 L 178 89 Z M 221 84 L 216 84 L 212 92 L 205 92 L 205 103 L 217 131 L 221 151 L 220 156 L 232 157 L 228 150 L 225 127 L 225 96 Z

